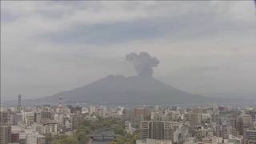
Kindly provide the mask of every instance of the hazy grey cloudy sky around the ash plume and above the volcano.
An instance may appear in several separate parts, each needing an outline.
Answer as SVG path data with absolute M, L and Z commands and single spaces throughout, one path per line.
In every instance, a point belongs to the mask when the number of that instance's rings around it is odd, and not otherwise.
M 2 2 L 2 100 L 39 98 L 158 58 L 154 77 L 194 94 L 256 97 L 256 11 L 234 2 Z

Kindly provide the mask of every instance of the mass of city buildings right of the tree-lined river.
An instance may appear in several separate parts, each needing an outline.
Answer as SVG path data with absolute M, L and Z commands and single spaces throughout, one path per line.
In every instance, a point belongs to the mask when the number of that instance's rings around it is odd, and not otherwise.
M 128 112 L 130 111 L 130 112 Z M 230 106 L 124 110 L 128 127 L 140 130 L 137 144 L 256 144 L 256 110 Z M 139 122 L 139 125 L 138 125 Z

